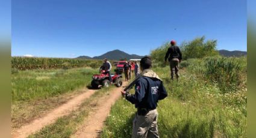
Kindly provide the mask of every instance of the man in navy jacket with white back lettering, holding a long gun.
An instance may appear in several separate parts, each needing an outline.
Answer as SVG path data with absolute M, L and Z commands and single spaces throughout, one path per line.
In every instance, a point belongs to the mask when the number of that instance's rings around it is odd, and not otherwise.
M 157 103 L 167 97 L 166 89 L 158 75 L 151 70 L 151 59 L 146 56 L 140 61 L 141 76 L 135 84 L 135 94 L 121 91 L 126 100 L 135 104 L 132 137 L 159 137 L 157 126 Z

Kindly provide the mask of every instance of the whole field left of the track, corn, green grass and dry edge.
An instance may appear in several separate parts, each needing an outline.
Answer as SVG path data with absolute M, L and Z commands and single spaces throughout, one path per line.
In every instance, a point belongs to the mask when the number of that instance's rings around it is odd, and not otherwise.
M 98 66 L 102 63 L 83 60 L 12 58 L 12 127 L 19 128 L 83 92 L 80 90 L 90 85 L 92 75 L 98 73 Z M 56 64 L 51 66 L 54 64 L 49 62 Z M 90 65 L 95 68 L 89 67 Z

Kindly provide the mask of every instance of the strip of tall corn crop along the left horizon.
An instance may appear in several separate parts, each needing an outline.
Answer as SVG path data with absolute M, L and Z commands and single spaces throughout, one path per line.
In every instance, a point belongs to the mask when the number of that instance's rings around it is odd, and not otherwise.
M 77 68 L 92 67 L 99 68 L 102 60 L 92 59 L 71 59 L 71 58 L 29 58 L 29 57 L 12 57 L 12 73 L 15 69 L 34 70 L 34 69 L 57 69 L 57 68 Z

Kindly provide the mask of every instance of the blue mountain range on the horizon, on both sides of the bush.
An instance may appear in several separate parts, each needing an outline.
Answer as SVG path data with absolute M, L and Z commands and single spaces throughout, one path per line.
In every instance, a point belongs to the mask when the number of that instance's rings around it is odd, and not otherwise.
M 229 51 L 229 50 L 218 50 L 220 55 L 222 56 L 245 56 L 247 55 L 247 52 L 245 51 L 239 51 L 239 50 L 234 50 L 234 51 Z M 78 56 L 77 58 L 80 59 L 110 59 L 110 60 L 120 60 L 120 59 L 140 59 L 143 58 L 143 56 L 135 55 L 135 54 L 128 54 L 125 53 L 121 50 L 112 50 L 110 52 L 104 53 L 103 55 L 100 56 Z

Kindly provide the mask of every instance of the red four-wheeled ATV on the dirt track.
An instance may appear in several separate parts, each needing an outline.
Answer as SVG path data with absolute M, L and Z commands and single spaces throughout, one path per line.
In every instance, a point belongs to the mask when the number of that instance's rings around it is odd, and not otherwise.
M 91 86 L 92 88 L 99 88 L 99 85 L 104 87 L 110 86 L 110 76 L 106 73 L 105 70 L 100 70 L 101 74 L 94 74 L 92 77 Z M 114 70 L 115 73 L 111 74 L 112 83 L 115 84 L 117 87 L 122 86 L 122 74 L 118 70 Z

